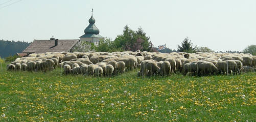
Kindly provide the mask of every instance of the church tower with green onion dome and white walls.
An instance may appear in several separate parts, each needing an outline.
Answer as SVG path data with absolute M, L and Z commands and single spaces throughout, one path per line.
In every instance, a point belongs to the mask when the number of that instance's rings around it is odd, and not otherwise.
M 96 27 L 95 25 L 95 19 L 92 16 L 92 11 L 91 9 L 91 17 L 89 19 L 89 25 L 84 29 L 84 35 L 79 37 L 80 41 L 86 41 L 90 43 L 94 43 L 95 45 L 99 45 L 99 42 L 104 39 L 101 35 L 99 35 L 100 30 Z

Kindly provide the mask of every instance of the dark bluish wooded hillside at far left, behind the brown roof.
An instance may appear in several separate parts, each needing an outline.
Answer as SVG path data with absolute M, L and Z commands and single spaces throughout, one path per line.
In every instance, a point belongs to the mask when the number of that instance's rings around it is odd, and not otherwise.
M 0 40 L 0 57 L 14 55 L 17 52 L 22 52 L 30 43 L 21 41 L 5 41 Z

